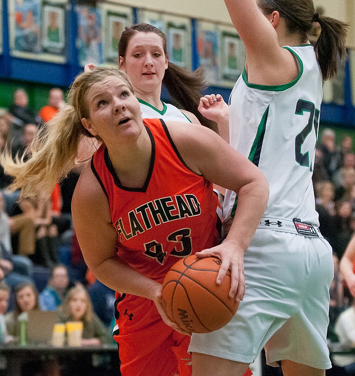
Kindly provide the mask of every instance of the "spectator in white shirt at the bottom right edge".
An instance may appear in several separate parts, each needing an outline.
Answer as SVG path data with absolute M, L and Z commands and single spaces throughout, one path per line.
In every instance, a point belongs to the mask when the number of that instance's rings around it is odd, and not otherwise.
M 345 347 L 355 347 L 355 302 L 350 308 L 342 312 L 336 323 L 335 332 L 339 342 Z M 355 356 L 341 355 L 336 357 L 336 363 L 342 366 L 349 376 L 355 376 Z

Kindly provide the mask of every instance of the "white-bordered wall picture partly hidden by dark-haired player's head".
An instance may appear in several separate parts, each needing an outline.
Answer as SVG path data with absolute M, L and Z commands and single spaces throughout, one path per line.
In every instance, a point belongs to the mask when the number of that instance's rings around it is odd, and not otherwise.
M 108 3 L 101 3 L 99 6 L 103 19 L 103 62 L 117 66 L 118 43 L 124 28 L 133 23 L 132 8 Z

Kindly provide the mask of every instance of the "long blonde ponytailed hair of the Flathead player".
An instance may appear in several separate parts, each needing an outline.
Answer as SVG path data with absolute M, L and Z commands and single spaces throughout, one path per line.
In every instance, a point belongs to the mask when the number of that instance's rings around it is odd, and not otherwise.
M 18 157 L 13 160 L 9 152 L 1 154 L 0 164 L 5 173 L 14 177 L 10 189 L 21 188 L 22 198 L 39 192 L 49 196 L 55 184 L 68 175 L 75 167 L 81 138 L 93 138 L 81 124 L 82 118 L 89 118 L 87 92 L 109 76 L 121 78 L 133 93 L 129 77 L 118 69 L 99 67 L 81 73 L 69 91 L 68 104 L 36 133 L 31 144 L 32 156 L 25 162 Z

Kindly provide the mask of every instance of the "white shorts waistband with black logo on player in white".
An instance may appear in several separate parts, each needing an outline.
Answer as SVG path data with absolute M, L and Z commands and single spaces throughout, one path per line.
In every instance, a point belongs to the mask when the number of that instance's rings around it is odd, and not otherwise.
M 292 221 L 284 218 L 263 217 L 258 229 L 280 231 L 310 237 L 323 237 L 317 226 L 302 222 L 299 218 Z

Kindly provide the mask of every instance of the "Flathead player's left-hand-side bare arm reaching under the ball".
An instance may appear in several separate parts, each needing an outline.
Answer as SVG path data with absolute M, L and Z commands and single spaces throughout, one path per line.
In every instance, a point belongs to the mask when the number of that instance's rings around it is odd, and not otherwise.
M 163 321 L 182 331 L 169 320 L 161 303 L 161 284 L 122 262 L 116 246 L 117 232 L 111 224 L 107 197 L 91 171 L 90 163 L 82 171 L 72 199 L 72 215 L 79 245 L 88 268 L 113 290 L 151 299 Z

